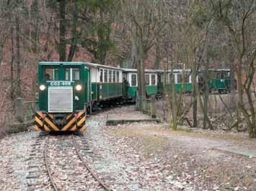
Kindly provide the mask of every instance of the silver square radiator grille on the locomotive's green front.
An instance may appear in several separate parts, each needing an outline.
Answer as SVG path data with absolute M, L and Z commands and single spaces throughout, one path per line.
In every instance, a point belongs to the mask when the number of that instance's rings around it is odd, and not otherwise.
M 73 111 L 72 87 L 49 87 L 48 112 L 69 113 Z

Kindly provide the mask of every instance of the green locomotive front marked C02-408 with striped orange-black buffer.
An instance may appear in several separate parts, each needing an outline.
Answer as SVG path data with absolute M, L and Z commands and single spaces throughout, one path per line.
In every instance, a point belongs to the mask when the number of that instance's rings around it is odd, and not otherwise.
M 84 131 L 89 69 L 84 62 L 40 62 L 37 131 Z

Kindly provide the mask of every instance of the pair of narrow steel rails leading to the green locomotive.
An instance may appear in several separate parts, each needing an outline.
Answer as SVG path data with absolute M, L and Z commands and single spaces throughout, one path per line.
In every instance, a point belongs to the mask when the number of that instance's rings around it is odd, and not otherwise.
M 43 149 L 43 157 L 44 157 L 45 167 L 47 169 L 48 177 L 50 179 L 50 185 L 52 185 L 53 190 L 58 191 L 58 190 L 62 190 L 62 188 L 59 188 L 61 186 L 58 185 L 57 181 L 55 180 L 55 177 L 53 175 L 53 174 L 55 174 L 55 172 L 53 173 L 53 171 L 50 169 L 50 162 L 49 162 L 50 157 L 48 157 L 49 139 L 51 139 L 51 138 L 50 137 L 46 138 L 44 149 Z M 73 135 L 71 136 L 71 141 L 69 143 L 72 144 L 70 146 L 74 147 L 74 150 L 75 150 L 75 153 L 76 153 L 77 157 L 81 161 L 82 165 L 84 167 L 86 167 L 87 172 L 89 172 L 89 174 L 91 174 L 92 178 L 94 178 L 94 180 L 96 180 L 96 182 L 98 182 L 98 185 L 100 185 L 100 187 L 102 187 L 103 190 L 110 191 L 110 188 L 107 187 L 107 185 L 105 185 L 105 183 L 102 182 L 102 180 L 100 180 L 99 177 L 97 177 L 97 174 L 95 174 L 92 171 L 92 169 L 89 167 L 87 162 L 83 159 L 83 157 L 81 157 L 81 154 L 79 152 L 79 147 L 77 146 L 76 140 L 75 140 Z M 86 174 L 86 176 L 88 176 L 88 174 Z M 74 178 L 76 178 L 76 177 L 74 177 Z

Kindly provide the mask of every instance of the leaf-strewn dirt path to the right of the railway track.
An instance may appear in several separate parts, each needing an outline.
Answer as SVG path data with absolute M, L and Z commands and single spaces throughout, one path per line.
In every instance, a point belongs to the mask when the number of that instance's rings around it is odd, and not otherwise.
M 131 112 L 129 108 L 127 111 Z M 125 108 L 115 110 L 122 112 L 126 112 Z M 125 173 L 134 168 L 126 174 L 136 181 L 126 182 L 137 188 L 125 187 L 125 190 L 255 190 L 256 159 L 219 149 L 256 153 L 255 140 L 247 139 L 245 134 L 169 131 L 164 124 L 105 126 L 106 114 L 95 116 L 94 120 L 101 122 L 89 126 L 87 133 L 111 146 L 110 156 L 116 157 L 110 160 L 115 168 L 120 165 L 115 165 L 115 160 L 125 162 L 120 167 Z M 119 177 L 123 180 L 121 188 L 125 178 Z

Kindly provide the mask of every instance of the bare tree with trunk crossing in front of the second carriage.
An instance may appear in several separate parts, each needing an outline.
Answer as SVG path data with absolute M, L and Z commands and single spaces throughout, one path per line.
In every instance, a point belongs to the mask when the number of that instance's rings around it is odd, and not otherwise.
M 157 14 L 159 1 L 121 1 L 123 21 L 127 24 L 131 37 L 133 62 L 138 70 L 138 95 L 146 98 L 145 89 L 145 59 L 153 47 L 156 37 L 159 37 L 162 26 L 161 16 Z M 158 24 L 158 27 L 156 27 Z M 160 27 L 159 27 L 160 26 Z M 139 103 L 141 108 L 141 103 Z

